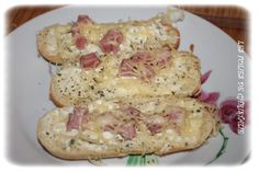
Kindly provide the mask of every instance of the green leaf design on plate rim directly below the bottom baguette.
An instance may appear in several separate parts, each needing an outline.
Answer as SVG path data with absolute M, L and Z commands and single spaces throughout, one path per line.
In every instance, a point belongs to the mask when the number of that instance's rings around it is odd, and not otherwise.
M 158 164 L 157 156 L 155 154 L 132 154 L 128 156 L 127 165 L 136 167 L 136 165 L 156 165 Z

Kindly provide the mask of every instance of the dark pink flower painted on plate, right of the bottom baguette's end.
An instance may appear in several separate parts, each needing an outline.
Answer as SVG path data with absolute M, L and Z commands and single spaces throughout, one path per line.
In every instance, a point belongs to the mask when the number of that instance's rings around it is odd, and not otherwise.
M 235 134 L 244 133 L 248 124 L 248 102 L 230 98 L 221 103 L 218 115 L 222 123 L 228 124 Z

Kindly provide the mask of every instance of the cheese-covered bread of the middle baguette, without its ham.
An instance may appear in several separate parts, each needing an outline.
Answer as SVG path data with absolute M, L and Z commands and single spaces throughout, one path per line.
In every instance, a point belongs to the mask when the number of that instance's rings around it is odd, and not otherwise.
M 148 53 L 157 56 L 162 51 L 157 49 Z M 120 65 L 124 57 L 106 56 L 92 70 L 85 70 L 78 64 L 64 66 L 52 78 L 50 99 L 56 105 L 65 106 L 99 99 L 172 94 L 193 96 L 200 93 L 200 61 L 191 53 L 171 50 L 167 66 L 158 69 L 154 64 L 154 76 L 147 81 L 142 77 L 120 76 Z

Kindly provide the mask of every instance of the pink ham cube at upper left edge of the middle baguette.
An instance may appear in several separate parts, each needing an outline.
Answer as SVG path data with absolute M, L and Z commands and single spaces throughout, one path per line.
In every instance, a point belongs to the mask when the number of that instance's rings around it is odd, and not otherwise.
M 97 68 L 101 64 L 95 53 L 90 53 L 88 55 L 80 57 L 80 65 L 83 69 L 90 70 Z

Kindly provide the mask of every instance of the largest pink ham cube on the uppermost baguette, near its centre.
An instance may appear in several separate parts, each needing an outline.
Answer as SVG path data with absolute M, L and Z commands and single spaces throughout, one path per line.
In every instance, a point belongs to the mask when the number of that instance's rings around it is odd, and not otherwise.
M 103 53 L 114 53 L 120 50 L 120 45 L 123 42 L 123 34 L 119 30 L 109 30 L 100 42 Z

